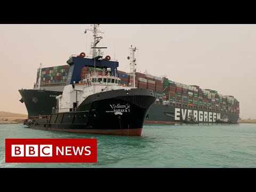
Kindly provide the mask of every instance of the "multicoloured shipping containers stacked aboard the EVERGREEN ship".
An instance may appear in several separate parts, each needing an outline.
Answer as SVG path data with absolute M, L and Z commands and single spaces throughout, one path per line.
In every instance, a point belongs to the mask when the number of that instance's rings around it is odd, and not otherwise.
M 66 83 L 69 65 L 42 68 L 41 84 Z M 81 71 L 81 79 L 87 74 L 106 74 L 103 69 L 84 67 Z M 118 70 L 117 76 L 121 78 L 121 84 L 130 85 L 131 75 Z M 37 81 L 39 69 L 37 71 Z M 170 81 L 167 78 L 156 77 L 149 74 L 135 73 L 135 86 L 139 89 L 153 90 L 156 102 L 169 101 L 172 105 L 183 107 L 197 107 L 228 111 L 239 114 L 239 101 L 231 95 L 222 95 L 215 90 L 201 89 L 198 85 L 186 85 Z

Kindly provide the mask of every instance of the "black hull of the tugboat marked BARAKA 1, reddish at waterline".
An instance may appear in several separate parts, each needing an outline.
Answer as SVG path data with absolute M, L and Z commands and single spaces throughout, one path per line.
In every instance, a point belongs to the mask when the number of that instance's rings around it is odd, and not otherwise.
M 150 90 L 111 90 L 90 95 L 76 111 L 29 118 L 25 124 L 49 131 L 140 136 L 155 100 Z

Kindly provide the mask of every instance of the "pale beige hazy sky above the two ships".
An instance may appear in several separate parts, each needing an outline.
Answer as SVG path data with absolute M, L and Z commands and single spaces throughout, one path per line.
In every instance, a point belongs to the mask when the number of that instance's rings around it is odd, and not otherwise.
M 66 65 L 90 52 L 92 33 L 82 25 L 0 25 L 0 111 L 27 114 L 19 89 L 32 89 L 39 63 Z M 138 49 L 137 71 L 165 75 L 240 102 L 241 118 L 256 118 L 256 25 L 100 25 L 103 50 L 129 72 L 129 47 Z

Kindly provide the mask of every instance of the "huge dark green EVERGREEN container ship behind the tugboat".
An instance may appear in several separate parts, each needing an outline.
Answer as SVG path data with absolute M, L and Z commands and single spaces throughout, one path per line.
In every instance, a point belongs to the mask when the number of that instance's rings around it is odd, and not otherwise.
M 79 55 L 70 58 L 77 56 L 79 58 Z M 86 66 L 82 62 L 78 65 L 79 70 L 75 72 L 70 65 L 38 68 L 33 89 L 19 90 L 20 101 L 25 103 L 28 117 L 50 115 L 58 104 L 56 97 L 62 94 L 65 85 L 70 84 L 70 79 L 84 79 L 95 70 L 103 72 L 100 66 Z M 233 95 L 135 72 L 135 68 L 129 72 L 121 71 L 117 69 L 118 62 L 112 62 L 109 67 L 115 70 L 121 85 L 129 87 L 135 84 L 139 89 L 153 91 L 156 100 L 149 107 L 145 124 L 184 123 L 189 114 L 193 114 L 199 123 L 237 123 L 239 101 Z

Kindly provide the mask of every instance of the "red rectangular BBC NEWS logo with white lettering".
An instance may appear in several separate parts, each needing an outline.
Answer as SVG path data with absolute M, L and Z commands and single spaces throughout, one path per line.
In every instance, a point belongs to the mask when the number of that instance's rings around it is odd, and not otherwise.
M 97 139 L 5 139 L 6 163 L 97 163 Z

